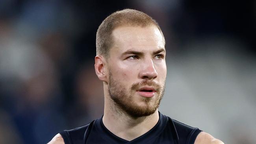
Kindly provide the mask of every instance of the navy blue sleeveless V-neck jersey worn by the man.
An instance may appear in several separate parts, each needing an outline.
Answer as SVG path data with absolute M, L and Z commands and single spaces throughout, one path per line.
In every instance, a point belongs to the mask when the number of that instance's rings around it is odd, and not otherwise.
M 65 144 L 194 144 L 200 129 L 187 126 L 159 113 L 156 126 L 132 141 L 111 133 L 102 118 L 90 124 L 60 132 Z

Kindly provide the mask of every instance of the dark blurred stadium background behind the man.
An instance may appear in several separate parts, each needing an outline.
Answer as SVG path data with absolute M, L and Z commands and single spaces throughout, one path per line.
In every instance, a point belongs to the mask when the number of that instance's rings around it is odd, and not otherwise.
M 161 113 L 226 144 L 256 144 L 253 0 L 0 0 L 0 144 L 45 144 L 103 114 L 96 30 L 124 8 L 165 35 Z

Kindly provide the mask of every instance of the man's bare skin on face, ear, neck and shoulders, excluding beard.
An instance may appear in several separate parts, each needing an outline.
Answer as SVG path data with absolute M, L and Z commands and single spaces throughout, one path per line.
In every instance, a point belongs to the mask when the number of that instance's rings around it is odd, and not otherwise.
M 134 83 L 154 81 L 163 87 L 167 73 L 165 63 L 165 42 L 156 26 L 120 26 L 113 30 L 114 44 L 106 59 L 102 55 L 95 57 L 95 71 L 104 84 L 104 116 L 106 128 L 117 137 L 133 140 L 156 125 L 158 110 L 149 116 L 135 117 L 115 105 L 109 96 L 109 80 L 114 79 L 132 94 L 129 101 L 138 109 L 155 105 L 160 94 L 156 93 L 150 102 L 145 102 L 136 90 L 130 90 Z M 136 54 L 130 51 L 138 52 Z M 127 95 L 126 95 L 127 96 Z M 61 135 L 56 135 L 49 144 L 64 144 Z M 223 144 L 210 134 L 201 132 L 195 144 Z

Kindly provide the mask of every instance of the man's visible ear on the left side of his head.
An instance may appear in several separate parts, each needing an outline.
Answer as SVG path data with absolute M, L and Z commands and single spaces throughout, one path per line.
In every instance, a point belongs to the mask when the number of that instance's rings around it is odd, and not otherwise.
M 108 71 L 106 66 L 106 60 L 104 59 L 104 57 L 102 57 L 102 55 L 96 55 L 94 67 L 95 67 L 95 72 L 98 78 L 101 81 L 107 81 Z

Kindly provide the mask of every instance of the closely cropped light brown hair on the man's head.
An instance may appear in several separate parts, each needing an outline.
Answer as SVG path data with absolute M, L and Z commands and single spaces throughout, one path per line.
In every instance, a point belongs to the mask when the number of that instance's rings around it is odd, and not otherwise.
M 96 55 L 108 57 L 109 49 L 113 43 L 112 31 L 119 26 L 156 26 L 161 31 L 160 26 L 152 17 L 134 9 L 123 9 L 112 13 L 103 20 L 96 33 Z M 164 36 L 163 41 L 165 42 Z

